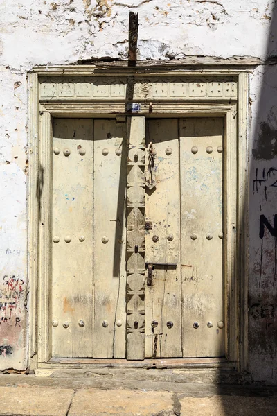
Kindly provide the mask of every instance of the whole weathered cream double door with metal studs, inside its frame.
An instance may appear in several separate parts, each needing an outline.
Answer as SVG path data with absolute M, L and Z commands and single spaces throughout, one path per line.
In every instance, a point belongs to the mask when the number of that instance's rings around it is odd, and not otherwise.
M 53 357 L 224 356 L 223 155 L 221 118 L 53 119 Z

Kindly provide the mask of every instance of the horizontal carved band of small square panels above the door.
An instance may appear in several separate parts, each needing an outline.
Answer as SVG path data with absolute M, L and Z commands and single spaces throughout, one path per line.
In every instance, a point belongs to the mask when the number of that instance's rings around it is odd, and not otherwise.
M 235 78 L 178 76 L 146 79 L 132 76 L 134 94 L 129 98 L 127 77 L 43 77 L 40 79 L 39 98 L 46 101 L 234 100 L 238 96 Z

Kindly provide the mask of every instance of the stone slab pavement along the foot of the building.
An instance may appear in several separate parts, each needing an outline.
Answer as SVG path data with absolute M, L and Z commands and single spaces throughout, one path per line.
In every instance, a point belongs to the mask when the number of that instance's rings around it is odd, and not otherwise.
M 99 388 L 99 382 L 103 383 Z M 144 386 L 143 386 L 144 384 Z M 277 416 L 274 388 L 0 375 L 0 416 Z

